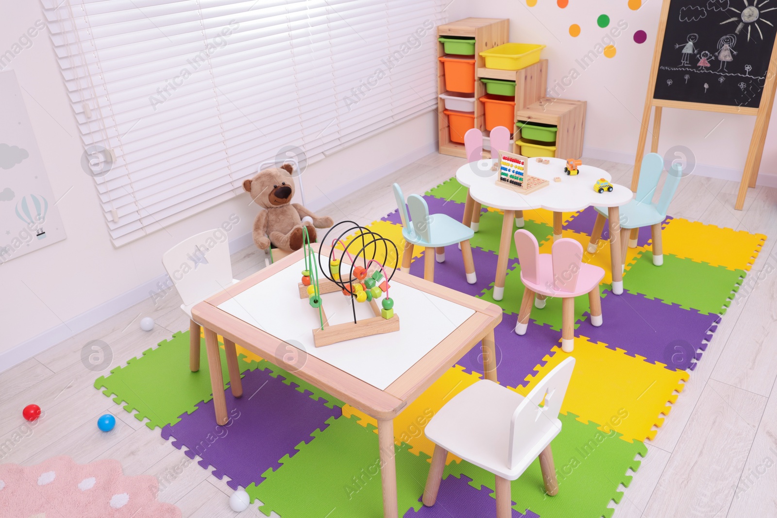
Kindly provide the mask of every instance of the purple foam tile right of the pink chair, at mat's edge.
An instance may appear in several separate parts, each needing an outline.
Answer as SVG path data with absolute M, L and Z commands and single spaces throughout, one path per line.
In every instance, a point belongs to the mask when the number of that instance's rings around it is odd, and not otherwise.
M 624 349 L 629 356 L 644 356 L 650 363 L 665 363 L 669 370 L 695 369 L 692 360 L 701 360 L 699 349 L 706 350 L 720 323 L 720 315 L 703 315 L 629 290 L 618 296 L 609 290 L 603 294 L 602 325 L 591 325 L 585 312 L 575 334 L 602 342 L 608 349 Z

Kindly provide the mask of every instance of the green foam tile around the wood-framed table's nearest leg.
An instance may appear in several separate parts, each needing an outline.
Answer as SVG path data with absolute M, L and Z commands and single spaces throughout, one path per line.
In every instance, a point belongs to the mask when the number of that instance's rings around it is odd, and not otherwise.
M 287 518 L 364 518 L 383 516 L 383 493 L 374 426 L 361 426 L 355 417 L 329 418 L 326 429 L 316 430 L 310 443 L 300 443 L 298 453 L 280 459 L 276 471 L 263 473 L 267 480 L 249 485 L 251 499 L 260 499 L 260 510 Z M 402 443 L 395 446 L 399 516 L 420 509 L 420 496 L 429 473 L 429 456 L 414 455 Z

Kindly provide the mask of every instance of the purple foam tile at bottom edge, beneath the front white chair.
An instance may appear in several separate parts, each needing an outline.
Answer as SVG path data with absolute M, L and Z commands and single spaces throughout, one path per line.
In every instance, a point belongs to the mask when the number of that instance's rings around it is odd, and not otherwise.
M 462 475 L 462 478 L 448 476 L 440 484 L 437 502 L 434 506 L 421 506 L 417 511 L 412 507 L 404 518 L 471 518 L 472 516 L 494 516 L 497 512 L 497 500 L 490 495 L 491 490 L 483 487 L 473 488 L 469 485 L 472 478 Z M 420 499 L 419 499 L 420 501 Z M 521 514 L 511 509 L 512 518 L 540 518 L 527 509 Z

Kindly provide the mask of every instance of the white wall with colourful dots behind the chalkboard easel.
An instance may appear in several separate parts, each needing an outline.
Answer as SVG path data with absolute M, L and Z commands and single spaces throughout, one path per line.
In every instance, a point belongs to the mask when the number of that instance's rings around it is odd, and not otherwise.
M 533 3 L 533 2 L 532 2 Z M 542 57 L 549 60 L 548 85 L 571 77 L 574 68 L 580 74 L 559 97 L 588 102 L 584 154 L 592 158 L 632 162 L 636 153 L 642 120 L 647 80 L 656 43 L 660 0 L 643 1 L 632 11 L 626 0 L 571 0 L 560 9 L 555 0 L 538 0 L 528 7 L 526 0 L 455 0 L 448 7 L 451 21 L 476 16 L 509 18 L 510 41 L 542 43 Z M 610 26 L 601 29 L 597 18 L 610 17 Z M 599 56 L 594 64 L 582 68 L 575 60 L 601 43 L 608 31 L 622 20 L 628 28 L 615 39 L 617 54 Z M 571 37 L 569 26 L 581 28 L 579 37 Z M 645 43 L 635 43 L 637 30 L 647 33 Z M 570 80 L 566 80 L 570 84 Z M 664 109 L 659 152 L 683 145 L 695 155 L 696 171 L 706 176 L 730 176 L 739 179 L 747 156 L 754 116 L 726 115 L 692 110 Z M 651 129 L 652 131 L 652 129 Z M 646 148 L 650 149 L 650 135 Z M 759 183 L 777 186 L 777 171 L 769 167 L 777 158 L 777 120 L 772 120 L 761 162 Z

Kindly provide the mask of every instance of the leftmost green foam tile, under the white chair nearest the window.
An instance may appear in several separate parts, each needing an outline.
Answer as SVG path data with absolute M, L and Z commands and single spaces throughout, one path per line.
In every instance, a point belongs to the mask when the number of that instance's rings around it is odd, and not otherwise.
M 224 349 L 221 353 L 221 371 L 229 379 Z M 241 356 L 243 358 L 243 356 Z M 240 371 L 259 366 L 256 362 L 240 361 Z M 213 397 L 211 374 L 207 364 L 205 341 L 201 339 L 200 370 L 189 370 L 189 332 L 176 332 L 172 339 L 159 342 L 142 356 L 127 361 L 125 367 L 116 367 L 108 376 L 100 376 L 94 386 L 103 388 L 106 396 L 114 395 L 117 404 L 125 403 L 127 412 L 137 411 L 135 419 L 148 419 L 146 426 L 154 429 L 179 422 L 179 415 L 197 410 L 197 404 Z M 227 384 L 225 383 L 225 388 Z

